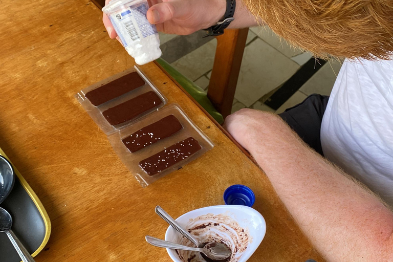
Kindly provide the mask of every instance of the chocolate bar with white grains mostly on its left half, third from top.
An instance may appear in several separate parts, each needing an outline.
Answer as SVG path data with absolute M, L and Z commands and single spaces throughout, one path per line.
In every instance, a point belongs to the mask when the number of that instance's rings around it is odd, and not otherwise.
M 175 116 L 170 115 L 139 129 L 137 132 L 124 138 L 122 141 L 128 150 L 133 153 L 148 145 L 172 136 L 182 128 L 183 126 L 179 120 Z

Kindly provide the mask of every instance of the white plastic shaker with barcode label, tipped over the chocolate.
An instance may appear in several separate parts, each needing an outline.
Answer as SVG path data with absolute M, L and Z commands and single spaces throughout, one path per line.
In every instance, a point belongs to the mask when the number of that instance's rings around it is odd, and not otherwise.
M 146 0 L 112 0 L 102 8 L 123 47 L 140 65 L 161 56 L 156 26 L 151 25 L 146 17 L 148 9 Z

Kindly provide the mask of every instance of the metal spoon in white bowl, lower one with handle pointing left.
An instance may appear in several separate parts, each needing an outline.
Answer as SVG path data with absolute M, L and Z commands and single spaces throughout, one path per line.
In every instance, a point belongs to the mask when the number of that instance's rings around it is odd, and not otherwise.
M 192 248 L 192 247 L 187 247 L 180 244 L 172 243 L 169 241 L 165 241 L 149 235 L 146 236 L 146 242 L 149 243 L 150 245 L 159 248 L 170 248 L 170 249 L 201 252 L 205 254 L 209 259 L 214 261 L 226 260 L 232 254 L 230 248 L 222 243 L 209 243 L 206 244 L 203 248 Z

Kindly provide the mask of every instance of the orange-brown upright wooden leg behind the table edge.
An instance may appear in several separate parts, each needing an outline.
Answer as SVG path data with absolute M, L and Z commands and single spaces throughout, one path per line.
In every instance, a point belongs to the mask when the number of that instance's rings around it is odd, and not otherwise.
M 207 96 L 224 118 L 231 114 L 248 28 L 227 29 L 217 36 Z

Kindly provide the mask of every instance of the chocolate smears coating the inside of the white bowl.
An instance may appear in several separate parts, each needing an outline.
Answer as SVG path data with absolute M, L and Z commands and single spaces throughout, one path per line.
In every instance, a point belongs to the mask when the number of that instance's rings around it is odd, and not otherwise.
M 184 262 L 237 262 L 246 251 L 248 244 L 252 242 L 248 229 L 239 226 L 228 213 L 198 216 L 191 219 L 186 228 L 200 243 L 216 242 L 227 245 L 232 250 L 232 255 L 229 259 L 214 261 L 206 259 L 206 256 L 197 252 L 177 250 L 180 260 Z M 184 236 L 179 236 L 179 239 L 174 242 L 193 247 Z

